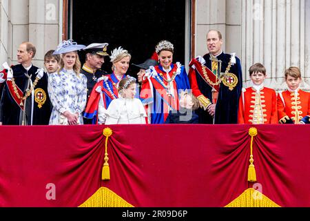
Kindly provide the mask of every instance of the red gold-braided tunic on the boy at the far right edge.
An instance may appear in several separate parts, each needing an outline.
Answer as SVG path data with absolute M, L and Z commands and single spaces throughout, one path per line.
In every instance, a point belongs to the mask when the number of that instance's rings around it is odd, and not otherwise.
M 295 124 L 298 124 L 302 117 L 310 115 L 310 93 L 303 90 L 299 89 L 296 96 L 294 92 L 285 90 L 278 94 L 277 103 L 280 123 L 285 123 L 291 118 Z

